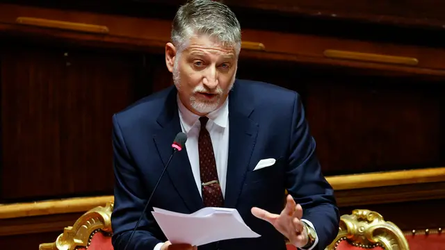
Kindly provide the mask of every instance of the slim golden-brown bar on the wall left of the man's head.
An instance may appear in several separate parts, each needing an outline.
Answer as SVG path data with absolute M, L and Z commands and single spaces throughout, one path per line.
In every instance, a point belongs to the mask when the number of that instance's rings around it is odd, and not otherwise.
M 107 26 L 95 25 L 95 24 L 82 24 L 76 22 L 63 22 L 58 20 L 41 19 L 34 17 L 17 17 L 15 22 L 17 22 L 17 24 L 38 26 L 43 28 L 59 28 L 68 31 L 80 31 L 86 33 L 107 34 L 109 32 Z

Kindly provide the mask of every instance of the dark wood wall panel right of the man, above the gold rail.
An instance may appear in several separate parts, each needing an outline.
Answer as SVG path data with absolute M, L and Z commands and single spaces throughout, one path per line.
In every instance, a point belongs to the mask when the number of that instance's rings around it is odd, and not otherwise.
M 442 85 L 312 75 L 307 118 L 326 175 L 444 165 Z

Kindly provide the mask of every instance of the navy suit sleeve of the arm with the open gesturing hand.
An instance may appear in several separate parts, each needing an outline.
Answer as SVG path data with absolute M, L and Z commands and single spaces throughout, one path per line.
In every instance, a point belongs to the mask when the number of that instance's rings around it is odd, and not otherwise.
M 313 249 L 323 250 L 337 236 L 339 210 L 334 190 L 321 173 L 321 165 L 316 158 L 316 143 L 310 134 L 298 93 L 292 117 L 286 189 L 302 206 L 302 219 L 310 222 L 317 233 L 318 242 Z

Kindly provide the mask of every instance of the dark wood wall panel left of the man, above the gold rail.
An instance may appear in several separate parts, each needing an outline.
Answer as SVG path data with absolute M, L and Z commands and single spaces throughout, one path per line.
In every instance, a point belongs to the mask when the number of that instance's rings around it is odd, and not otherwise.
M 139 55 L 3 43 L 1 199 L 112 193 L 111 116 L 148 94 L 134 92 L 144 69 Z

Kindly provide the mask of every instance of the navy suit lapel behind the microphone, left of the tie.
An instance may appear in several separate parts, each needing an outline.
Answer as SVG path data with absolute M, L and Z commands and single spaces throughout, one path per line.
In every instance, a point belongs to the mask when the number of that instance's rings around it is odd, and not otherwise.
M 176 93 L 175 88 L 170 91 L 165 101 L 165 110 L 161 112 L 158 118 L 161 129 L 154 135 L 154 142 L 164 165 L 167 164 L 172 153 L 171 145 L 173 140 L 175 140 L 177 133 L 181 132 Z M 203 207 L 185 147 L 183 150 L 176 152 L 172 157 L 166 174 L 191 213 Z

